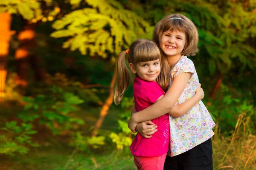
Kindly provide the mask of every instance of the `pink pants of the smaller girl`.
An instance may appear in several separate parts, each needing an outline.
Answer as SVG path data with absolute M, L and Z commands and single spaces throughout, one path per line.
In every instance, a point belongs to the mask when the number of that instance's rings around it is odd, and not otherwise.
M 161 156 L 134 156 L 137 170 L 163 170 L 166 153 Z

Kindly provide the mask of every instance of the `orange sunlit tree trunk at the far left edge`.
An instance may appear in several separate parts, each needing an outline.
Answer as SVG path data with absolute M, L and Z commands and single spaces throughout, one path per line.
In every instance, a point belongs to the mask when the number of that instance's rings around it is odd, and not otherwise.
M 12 34 L 11 31 L 12 16 L 4 12 L 0 14 L 0 99 L 4 96 L 4 89 L 7 76 L 7 56 L 9 54 L 9 42 Z

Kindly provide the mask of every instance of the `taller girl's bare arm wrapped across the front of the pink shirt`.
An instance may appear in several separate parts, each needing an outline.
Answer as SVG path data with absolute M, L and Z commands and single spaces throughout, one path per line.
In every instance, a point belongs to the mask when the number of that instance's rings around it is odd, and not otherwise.
M 177 102 L 191 75 L 192 73 L 189 72 L 177 75 L 162 99 L 158 100 L 148 108 L 145 108 L 143 111 L 134 113 L 128 121 L 128 126 L 131 131 L 135 132 L 135 128 L 139 122 L 155 119 L 168 113 Z

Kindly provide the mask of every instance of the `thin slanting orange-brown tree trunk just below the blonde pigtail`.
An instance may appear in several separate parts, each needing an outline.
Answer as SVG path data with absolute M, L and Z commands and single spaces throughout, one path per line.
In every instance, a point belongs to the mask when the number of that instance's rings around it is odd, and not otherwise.
M 109 87 L 109 95 L 108 98 L 106 100 L 106 102 L 104 103 L 102 110 L 99 113 L 99 118 L 95 123 L 95 127 L 91 133 L 92 136 L 96 136 L 97 135 L 97 131 L 102 127 L 102 123 L 105 119 L 105 116 L 108 114 L 108 110 L 110 108 L 110 106 L 113 103 L 113 99 L 114 99 L 114 86 L 116 83 L 116 69 L 114 71 L 113 77 L 111 79 L 111 83 L 110 83 L 110 87 Z

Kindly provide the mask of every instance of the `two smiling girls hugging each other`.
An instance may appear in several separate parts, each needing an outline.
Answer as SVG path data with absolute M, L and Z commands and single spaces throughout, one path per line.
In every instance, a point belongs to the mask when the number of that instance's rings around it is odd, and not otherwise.
M 119 104 L 134 79 L 134 108 L 128 126 L 138 170 L 212 170 L 215 123 L 201 99 L 204 91 L 193 62 L 198 31 L 181 14 L 163 17 L 153 39 L 136 40 L 117 59 L 114 101 Z

